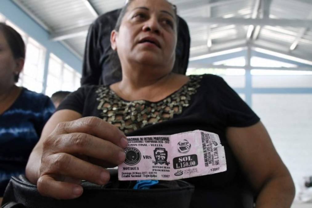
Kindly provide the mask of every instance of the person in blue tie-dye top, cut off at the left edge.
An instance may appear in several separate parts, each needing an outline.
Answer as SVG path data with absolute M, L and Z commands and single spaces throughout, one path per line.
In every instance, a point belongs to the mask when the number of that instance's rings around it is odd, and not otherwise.
M 29 154 L 55 110 L 48 96 L 16 86 L 24 62 L 22 37 L 0 23 L 0 203 L 11 176 L 25 172 Z

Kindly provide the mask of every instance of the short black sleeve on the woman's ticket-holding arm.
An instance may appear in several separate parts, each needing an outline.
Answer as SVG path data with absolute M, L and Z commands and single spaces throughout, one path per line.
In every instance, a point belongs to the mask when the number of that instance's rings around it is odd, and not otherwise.
M 68 109 L 73 110 L 81 115 L 84 111 L 85 98 L 90 89 L 90 86 L 80 87 L 75 92 L 72 92 L 61 102 L 61 104 L 57 107 L 56 111 Z

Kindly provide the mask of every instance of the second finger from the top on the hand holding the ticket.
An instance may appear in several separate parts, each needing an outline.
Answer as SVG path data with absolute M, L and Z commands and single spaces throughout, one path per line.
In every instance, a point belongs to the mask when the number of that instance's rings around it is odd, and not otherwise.
M 85 133 L 69 133 L 49 138 L 44 142 L 44 149 L 50 149 L 49 154 L 64 152 L 85 155 L 116 165 L 125 159 L 124 150 L 119 146 Z

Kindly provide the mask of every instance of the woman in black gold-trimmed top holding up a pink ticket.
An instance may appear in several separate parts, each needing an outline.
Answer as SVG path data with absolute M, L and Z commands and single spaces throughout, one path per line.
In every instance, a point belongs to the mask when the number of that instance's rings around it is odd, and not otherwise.
M 164 173 L 175 164 L 176 176 L 181 176 L 185 166 L 197 165 L 199 155 L 188 154 L 195 143 L 177 138 L 174 148 L 182 156 L 169 161 L 170 152 L 162 144 L 170 138 L 155 135 L 201 130 L 217 135 L 209 140 L 196 131 L 200 139 L 194 142 L 206 145 L 203 166 L 212 159 L 215 165 L 219 162 L 216 147 L 223 151 L 225 164 L 222 172 L 210 168 L 217 173 L 184 179 L 195 186 L 191 207 L 252 207 L 253 200 L 257 208 L 290 207 L 290 173 L 259 117 L 221 77 L 171 72 L 177 42 L 177 14 L 171 3 L 129 1 L 110 40 L 121 62 L 122 80 L 81 87 L 47 122 L 26 170 L 42 195 L 79 197 L 81 180 L 105 184 L 110 178 L 105 168 L 124 161 L 133 170 L 139 162 L 153 162 L 154 172 Z M 126 136 L 132 136 L 129 143 Z M 134 143 L 154 153 L 138 156 L 133 146 L 128 150 L 134 155 L 126 158 L 124 149 Z

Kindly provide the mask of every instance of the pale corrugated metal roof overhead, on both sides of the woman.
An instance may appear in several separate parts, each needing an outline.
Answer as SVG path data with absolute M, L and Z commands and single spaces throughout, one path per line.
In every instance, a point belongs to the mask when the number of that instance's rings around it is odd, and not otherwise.
M 68 46 L 82 57 L 87 26 L 98 15 L 122 7 L 124 0 L 13 0 L 22 9 L 51 33 L 51 37 L 61 37 Z M 260 1 L 259 8 L 257 3 Z M 222 50 L 236 45 L 254 43 L 266 49 L 280 50 L 312 60 L 312 31 L 304 27 L 261 26 L 259 32 L 253 30 L 247 41 L 249 25 L 243 18 L 274 19 L 312 19 L 312 1 L 310 0 L 171 0 L 177 5 L 178 14 L 184 19 L 189 17 L 224 18 L 218 23 L 188 22 L 191 34 L 191 57 L 202 53 Z M 269 3 L 269 4 L 266 4 Z M 227 23 L 227 19 L 241 18 L 239 25 Z M 263 20 L 265 21 L 265 20 Z M 285 25 L 285 24 L 284 24 Z M 310 23 L 311 25 L 311 23 Z M 76 35 L 68 35 L 68 33 Z M 79 33 L 80 32 L 80 33 Z M 207 41 L 212 46 L 208 48 Z M 56 39 L 58 40 L 58 39 Z M 290 46 L 298 42 L 294 50 Z M 296 44 L 295 44 L 296 45 Z

